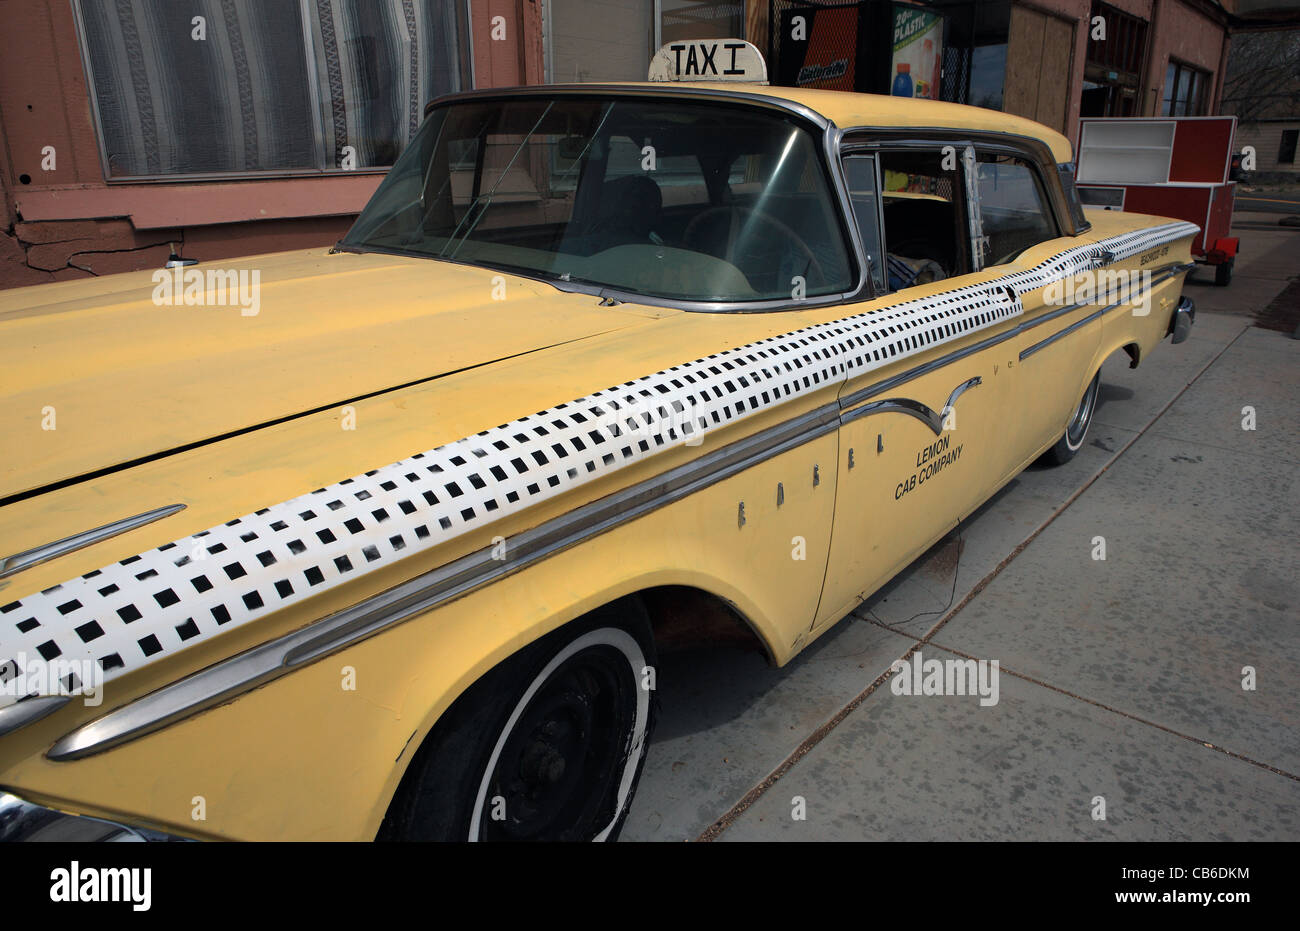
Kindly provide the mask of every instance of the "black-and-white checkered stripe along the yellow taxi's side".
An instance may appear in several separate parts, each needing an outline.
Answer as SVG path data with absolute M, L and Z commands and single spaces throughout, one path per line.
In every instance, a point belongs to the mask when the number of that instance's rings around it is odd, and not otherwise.
M 95 570 L 0 606 L 0 681 L 38 657 L 98 662 L 108 681 L 701 432 L 1017 317 L 1017 295 L 1091 268 L 1102 250 L 1124 259 L 1195 229 L 1124 234 L 675 365 Z

